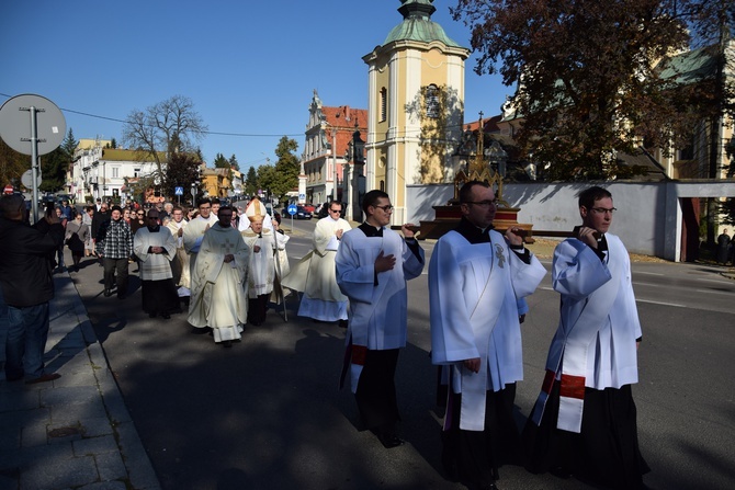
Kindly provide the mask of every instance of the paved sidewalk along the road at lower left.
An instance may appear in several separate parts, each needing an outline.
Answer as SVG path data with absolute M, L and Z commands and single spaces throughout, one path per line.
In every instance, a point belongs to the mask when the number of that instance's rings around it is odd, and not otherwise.
M 69 274 L 54 283 L 45 361 L 61 377 L 25 385 L 0 372 L 0 490 L 160 489 Z

